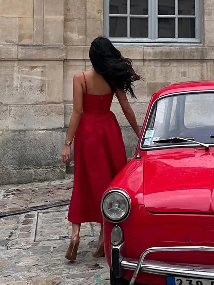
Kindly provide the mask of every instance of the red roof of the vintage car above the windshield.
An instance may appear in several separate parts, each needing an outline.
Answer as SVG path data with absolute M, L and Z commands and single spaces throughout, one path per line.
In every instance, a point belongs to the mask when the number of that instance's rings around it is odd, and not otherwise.
M 214 91 L 214 80 L 207 81 L 189 81 L 189 82 L 179 82 L 175 84 L 171 84 L 160 89 L 158 92 L 152 95 L 152 101 L 158 99 L 167 94 L 172 93 L 182 93 L 188 91 Z

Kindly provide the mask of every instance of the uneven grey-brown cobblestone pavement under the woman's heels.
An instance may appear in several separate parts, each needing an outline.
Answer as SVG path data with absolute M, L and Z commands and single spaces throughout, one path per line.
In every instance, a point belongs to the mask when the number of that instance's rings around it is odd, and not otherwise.
M 72 179 L 0 188 L 0 213 L 69 201 Z M 64 255 L 68 205 L 0 218 L 0 285 L 109 285 L 105 258 L 94 258 L 99 225 L 85 223 L 76 262 Z

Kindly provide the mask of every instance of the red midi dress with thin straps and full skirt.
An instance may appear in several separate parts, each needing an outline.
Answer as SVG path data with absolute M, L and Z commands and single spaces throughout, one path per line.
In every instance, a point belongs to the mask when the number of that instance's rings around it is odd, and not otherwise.
M 113 93 L 83 94 L 83 113 L 74 137 L 74 186 L 68 221 L 102 223 L 100 202 L 113 178 L 126 165 L 118 121 L 110 111 Z

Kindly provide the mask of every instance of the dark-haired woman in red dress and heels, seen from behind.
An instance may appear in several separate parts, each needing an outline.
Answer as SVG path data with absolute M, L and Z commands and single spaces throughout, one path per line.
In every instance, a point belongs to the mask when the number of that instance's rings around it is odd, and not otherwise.
M 133 82 L 140 80 L 130 59 L 122 57 L 110 40 L 96 38 L 89 51 L 92 69 L 73 78 L 73 112 L 62 151 L 62 162 L 70 162 L 70 145 L 74 139 L 74 187 L 68 221 L 72 222 L 72 238 L 66 258 L 74 261 L 79 245 L 80 225 L 100 223 L 98 249 L 94 257 L 104 256 L 100 202 L 112 179 L 127 163 L 121 129 L 110 111 L 114 94 L 122 110 L 140 136 L 136 117 L 126 93 L 132 97 Z

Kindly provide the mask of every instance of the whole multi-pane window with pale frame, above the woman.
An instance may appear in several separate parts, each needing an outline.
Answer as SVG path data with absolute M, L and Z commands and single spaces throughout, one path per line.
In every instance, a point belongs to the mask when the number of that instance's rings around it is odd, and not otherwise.
M 201 0 L 104 0 L 113 42 L 199 43 Z

